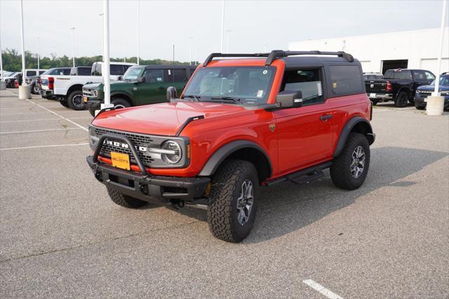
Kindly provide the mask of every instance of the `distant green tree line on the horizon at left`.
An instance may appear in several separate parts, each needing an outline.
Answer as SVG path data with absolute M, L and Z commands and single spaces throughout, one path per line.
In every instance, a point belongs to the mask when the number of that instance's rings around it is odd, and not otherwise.
M 20 72 L 22 69 L 22 55 L 18 53 L 15 49 L 6 48 L 3 53 L 1 53 L 3 58 L 3 69 L 9 72 Z M 126 62 L 137 63 L 136 57 L 126 58 Z M 102 56 L 83 56 L 75 58 L 75 65 L 79 67 L 90 67 L 93 62 L 102 61 Z M 111 61 L 123 61 L 123 58 L 111 58 Z M 175 64 L 188 65 L 189 62 L 179 62 L 175 61 Z M 173 61 L 163 60 L 163 59 L 149 59 L 145 60 L 140 58 L 140 65 L 171 65 Z M 72 58 L 64 55 L 58 57 L 55 54 L 51 54 L 51 57 L 40 57 L 39 67 L 41 69 L 51 69 L 52 67 L 72 67 Z M 25 51 L 25 68 L 26 69 L 36 69 L 37 68 L 37 55 L 29 51 Z

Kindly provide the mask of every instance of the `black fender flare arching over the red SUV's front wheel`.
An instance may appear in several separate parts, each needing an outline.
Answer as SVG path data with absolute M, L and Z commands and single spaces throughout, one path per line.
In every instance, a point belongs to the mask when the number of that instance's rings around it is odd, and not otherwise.
M 229 157 L 229 155 L 243 148 L 252 148 L 262 152 L 262 154 L 264 154 L 265 159 L 267 159 L 268 161 L 269 175 L 271 175 L 273 171 L 272 161 L 270 161 L 267 152 L 265 152 L 265 150 L 262 147 L 260 147 L 260 145 L 257 145 L 257 143 L 252 142 L 250 140 L 235 140 L 227 143 L 226 145 L 223 145 L 222 147 L 220 147 L 219 150 L 213 153 L 213 155 L 208 159 L 206 164 L 203 166 L 203 169 L 199 173 L 199 176 L 213 175 L 215 171 L 217 171 L 217 168 L 218 166 L 220 166 L 222 161 L 225 161 L 225 159 Z

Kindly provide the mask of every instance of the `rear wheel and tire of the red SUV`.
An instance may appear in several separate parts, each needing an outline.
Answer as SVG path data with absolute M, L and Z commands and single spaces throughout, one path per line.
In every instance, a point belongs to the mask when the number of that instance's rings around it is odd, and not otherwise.
M 340 155 L 330 166 L 330 178 L 335 186 L 355 190 L 366 179 L 370 168 L 370 145 L 365 135 L 351 133 Z

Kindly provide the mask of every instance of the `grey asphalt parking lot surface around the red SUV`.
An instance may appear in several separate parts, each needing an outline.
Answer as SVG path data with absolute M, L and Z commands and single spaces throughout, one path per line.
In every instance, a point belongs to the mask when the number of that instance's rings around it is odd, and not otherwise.
M 206 211 L 116 206 L 85 161 L 88 111 L 15 93 L 0 91 L 1 298 L 448 297 L 447 113 L 378 105 L 359 190 L 328 173 L 265 189 L 229 244 Z

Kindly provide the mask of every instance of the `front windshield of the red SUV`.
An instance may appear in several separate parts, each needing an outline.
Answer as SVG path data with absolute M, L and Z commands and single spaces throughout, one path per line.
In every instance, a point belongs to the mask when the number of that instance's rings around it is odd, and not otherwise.
M 267 102 L 275 67 L 201 67 L 184 91 L 200 101 L 232 100 L 241 104 Z

